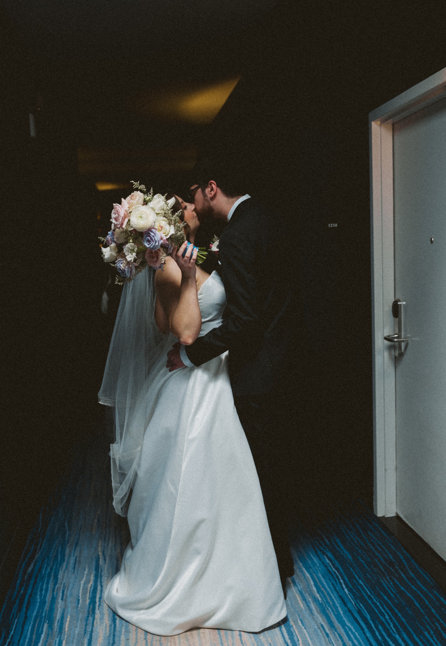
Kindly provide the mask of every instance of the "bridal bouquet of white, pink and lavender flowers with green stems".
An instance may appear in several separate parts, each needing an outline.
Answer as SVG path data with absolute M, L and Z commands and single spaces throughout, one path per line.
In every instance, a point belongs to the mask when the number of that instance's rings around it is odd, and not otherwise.
M 132 280 L 147 265 L 162 268 L 173 248 L 186 241 L 180 212 L 172 212 L 175 198 L 166 200 L 160 193 L 154 195 L 153 189 L 147 193 L 145 186 L 132 183 L 133 193 L 113 205 L 112 230 L 107 238 L 100 238 L 103 259 L 114 263 L 118 284 Z M 206 252 L 199 249 L 196 264 L 205 258 Z

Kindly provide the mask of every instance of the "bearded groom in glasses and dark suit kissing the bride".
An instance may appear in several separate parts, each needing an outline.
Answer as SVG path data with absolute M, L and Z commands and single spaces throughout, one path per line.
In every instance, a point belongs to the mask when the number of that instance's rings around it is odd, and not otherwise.
M 176 344 L 170 370 L 200 366 L 229 350 L 235 407 L 259 475 L 282 587 L 293 576 L 288 543 L 287 476 L 290 401 L 295 399 L 297 315 L 292 225 L 267 211 L 232 176 L 209 162 L 193 170 L 191 196 L 200 220 L 227 223 L 218 243 L 219 273 L 227 305 L 222 324 L 190 346 Z M 286 205 L 284 205 L 286 209 Z M 288 450 L 287 450 L 288 449 Z

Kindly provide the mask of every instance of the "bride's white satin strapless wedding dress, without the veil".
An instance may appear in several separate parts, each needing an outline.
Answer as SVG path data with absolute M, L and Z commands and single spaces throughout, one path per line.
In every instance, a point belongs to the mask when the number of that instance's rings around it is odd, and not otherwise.
M 214 272 L 198 292 L 204 335 L 221 322 Z M 138 408 L 146 429 L 128 510 L 131 542 L 105 590 L 114 612 L 160 635 L 194 627 L 257 632 L 286 616 L 227 353 L 170 372 L 168 335 Z

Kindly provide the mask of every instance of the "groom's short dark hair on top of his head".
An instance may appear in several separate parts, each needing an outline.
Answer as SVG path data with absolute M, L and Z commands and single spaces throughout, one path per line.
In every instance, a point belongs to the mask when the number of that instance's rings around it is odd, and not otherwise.
M 246 193 L 246 186 L 234 160 L 222 157 L 219 157 L 218 160 L 204 158 L 197 161 L 191 171 L 190 178 L 191 186 L 198 184 L 200 187 L 207 186 L 213 180 L 228 198 L 239 197 Z

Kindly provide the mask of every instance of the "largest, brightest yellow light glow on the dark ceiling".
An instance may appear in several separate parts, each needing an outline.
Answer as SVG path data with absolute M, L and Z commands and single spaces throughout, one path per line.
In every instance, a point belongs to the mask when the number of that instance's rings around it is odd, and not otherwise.
M 240 76 L 200 89 L 145 92 L 127 101 L 127 108 L 162 121 L 211 123 L 222 109 Z

